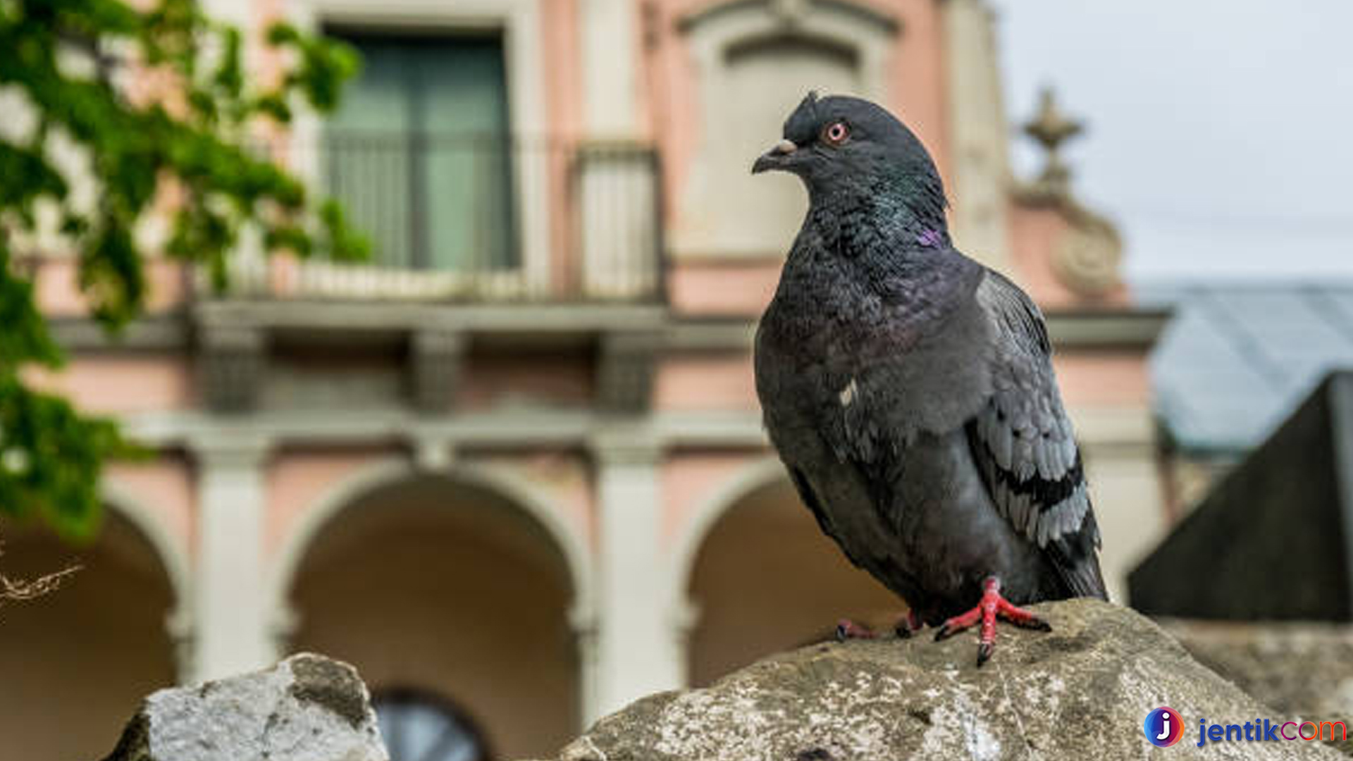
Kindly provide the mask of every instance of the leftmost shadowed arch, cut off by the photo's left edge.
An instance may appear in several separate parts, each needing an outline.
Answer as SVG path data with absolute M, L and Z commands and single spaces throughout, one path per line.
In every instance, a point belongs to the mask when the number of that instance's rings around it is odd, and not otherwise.
M 0 608 L 0 737 L 16 758 L 97 757 L 138 700 L 187 673 L 185 550 L 141 500 L 107 481 L 101 498 L 104 523 L 88 542 L 37 523 L 4 527 L 7 574 L 80 566 L 53 593 Z

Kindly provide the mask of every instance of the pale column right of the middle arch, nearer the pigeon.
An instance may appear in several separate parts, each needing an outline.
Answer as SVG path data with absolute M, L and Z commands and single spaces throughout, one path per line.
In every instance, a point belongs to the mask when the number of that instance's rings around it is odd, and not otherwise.
M 587 722 L 685 681 L 660 552 L 658 445 L 639 435 L 593 444 L 599 506 L 594 703 Z

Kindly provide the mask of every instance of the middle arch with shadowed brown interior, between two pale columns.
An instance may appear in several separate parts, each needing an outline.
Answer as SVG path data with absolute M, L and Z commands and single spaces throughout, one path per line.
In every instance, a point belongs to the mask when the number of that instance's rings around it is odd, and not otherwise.
M 372 689 L 441 695 L 498 752 L 538 756 L 589 697 L 590 566 L 580 531 L 520 477 L 392 458 L 303 515 L 269 593 L 285 649 L 346 659 Z

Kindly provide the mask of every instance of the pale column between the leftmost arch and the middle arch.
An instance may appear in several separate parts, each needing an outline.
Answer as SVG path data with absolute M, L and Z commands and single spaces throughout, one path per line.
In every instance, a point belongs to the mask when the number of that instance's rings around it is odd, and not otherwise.
M 264 463 L 256 437 L 212 437 L 198 462 L 198 681 L 277 659 L 262 566 Z

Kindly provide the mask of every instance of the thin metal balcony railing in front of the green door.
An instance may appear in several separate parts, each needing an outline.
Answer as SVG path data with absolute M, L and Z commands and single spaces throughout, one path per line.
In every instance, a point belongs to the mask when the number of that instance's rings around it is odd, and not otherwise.
M 649 302 L 662 298 L 658 157 L 635 145 L 327 134 L 294 160 L 371 261 L 239 256 L 244 298 Z M 307 154 L 308 153 L 308 154 Z

